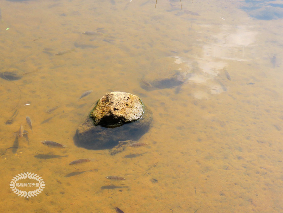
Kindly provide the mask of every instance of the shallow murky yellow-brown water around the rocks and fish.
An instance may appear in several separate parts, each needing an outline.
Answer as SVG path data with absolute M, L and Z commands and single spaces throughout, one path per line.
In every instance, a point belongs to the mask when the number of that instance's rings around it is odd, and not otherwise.
M 283 212 L 282 19 L 258 20 L 243 7 L 244 1 L 2 1 L 0 72 L 32 73 L 0 79 L 1 211 Z M 141 88 L 141 79 L 185 71 L 181 86 Z M 138 95 L 153 111 L 152 127 L 138 141 L 148 145 L 116 155 L 77 148 L 78 125 L 111 91 Z M 29 134 L 16 138 L 21 123 Z M 83 158 L 92 161 L 69 165 Z M 11 179 L 24 172 L 42 177 L 41 194 L 26 199 L 11 191 Z

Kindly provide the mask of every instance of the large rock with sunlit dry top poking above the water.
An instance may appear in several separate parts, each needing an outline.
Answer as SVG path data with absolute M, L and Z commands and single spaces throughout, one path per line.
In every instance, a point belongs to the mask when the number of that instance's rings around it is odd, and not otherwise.
M 150 128 L 152 112 L 133 94 L 112 92 L 98 100 L 78 127 L 74 142 L 88 149 L 113 148 L 138 140 Z

